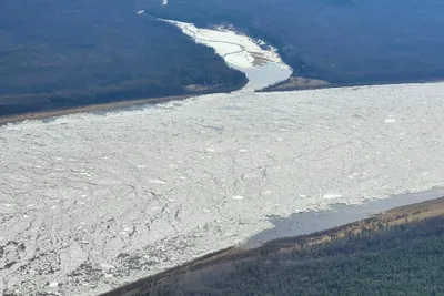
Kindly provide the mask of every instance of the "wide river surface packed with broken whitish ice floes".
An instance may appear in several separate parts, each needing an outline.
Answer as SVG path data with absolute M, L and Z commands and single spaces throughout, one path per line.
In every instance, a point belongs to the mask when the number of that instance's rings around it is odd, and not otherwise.
M 443 89 L 238 92 L 1 126 L 0 292 L 94 295 L 266 215 L 443 186 Z

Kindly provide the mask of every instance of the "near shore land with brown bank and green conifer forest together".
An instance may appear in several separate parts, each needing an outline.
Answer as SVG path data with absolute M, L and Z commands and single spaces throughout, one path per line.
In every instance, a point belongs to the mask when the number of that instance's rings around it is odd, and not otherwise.
M 102 296 L 444 295 L 444 197 L 216 251 Z

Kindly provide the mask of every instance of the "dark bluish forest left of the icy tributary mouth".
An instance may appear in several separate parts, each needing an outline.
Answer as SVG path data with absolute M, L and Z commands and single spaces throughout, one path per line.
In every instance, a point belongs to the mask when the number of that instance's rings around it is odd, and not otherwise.
M 132 1 L 0 1 L 0 116 L 245 83 Z

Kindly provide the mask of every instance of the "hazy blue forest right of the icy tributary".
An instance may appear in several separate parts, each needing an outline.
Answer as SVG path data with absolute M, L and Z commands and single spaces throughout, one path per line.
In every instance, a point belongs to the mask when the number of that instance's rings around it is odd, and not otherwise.
M 233 24 L 276 47 L 293 74 L 332 84 L 444 79 L 442 0 L 137 0 L 157 17 Z

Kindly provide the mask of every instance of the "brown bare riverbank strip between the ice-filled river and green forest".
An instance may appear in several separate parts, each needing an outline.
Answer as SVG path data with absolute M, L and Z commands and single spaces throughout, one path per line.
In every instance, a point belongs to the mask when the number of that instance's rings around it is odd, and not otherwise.
M 424 194 L 428 195 L 430 193 Z M 417 196 L 415 198 L 417 200 Z M 364 206 L 365 205 L 362 207 Z M 261 258 L 270 256 L 271 258 L 274 258 L 274 262 L 270 263 L 274 266 L 278 266 L 280 264 L 278 261 L 280 256 L 285 256 L 285 254 L 289 255 L 292 252 L 297 252 L 297 249 L 303 249 L 315 245 L 326 245 L 330 242 L 335 242 L 344 237 L 351 238 L 359 234 L 372 232 L 376 233 L 382 229 L 396 227 L 398 225 L 408 226 L 412 223 L 442 217 L 443 215 L 444 197 L 425 200 L 420 203 L 413 202 L 408 205 L 387 208 L 382 213 L 372 215 L 371 217 L 360 218 L 355 222 L 341 224 L 341 226 L 333 224 L 322 231 L 316 231 L 314 233 L 310 232 L 306 234 L 302 233 L 301 235 L 294 237 L 270 241 L 258 247 L 252 248 L 251 245 L 249 245 L 246 248 L 245 246 L 233 246 L 222 249 L 182 266 L 171 268 L 158 275 L 153 275 L 148 278 L 128 284 L 123 287 L 119 287 L 109 293 L 104 293 L 101 296 L 133 296 L 148 294 L 158 295 L 159 290 L 163 290 L 163 293 L 168 290 L 170 293 L 169 295 L 175 295 L 175 293 L 179 293 L 179 290 L 183 293 L 184 289 L 199 289 L 200 285 L 204 285 L 206 287 L 205 290 L 209 293 L 209 295 L 219 295 L 218 293 L 220 293 L 222 289 L 221 287 L 219 289 L 214 289 L 213 294 L 210 293 L 210 278 L 221 278 L 220 276 L 224 275 L 225 273 L 231 273 L 234 268 L 236 268 L 236 266 L 241 266 L 242 263 L 249 264 L 251 262 L 260 262 Z M 325 226 L 327 224 L 325 224 Z M 431 236 L 433 234 L 431 234 Z M 380 237 L 380 239 L 382 239 L 382 237 Z M 344 243 L 344 245 L 346 243 Z M 287 267 L 296 264 L 302 267 L 304 262 L 302 258 L 300 258 L 300 263 L 297 262 L 297 257 L 292 258 L 293 264 L 289 265 L 290 258 L 292 257 L 285 257 Z M 269 272 L 268 277 L 271 279 L 273 277 L 273 273 Z M 179 289 L 178 287 L 181 288 Z

